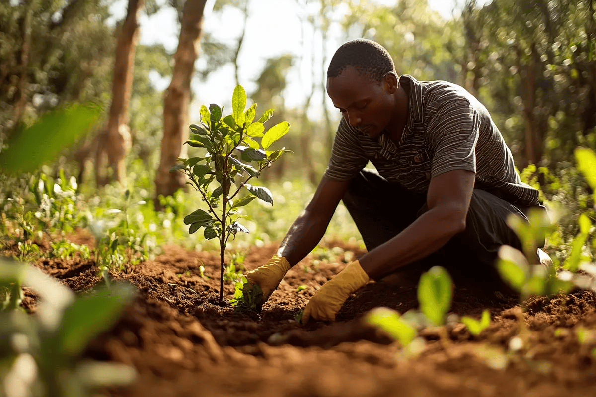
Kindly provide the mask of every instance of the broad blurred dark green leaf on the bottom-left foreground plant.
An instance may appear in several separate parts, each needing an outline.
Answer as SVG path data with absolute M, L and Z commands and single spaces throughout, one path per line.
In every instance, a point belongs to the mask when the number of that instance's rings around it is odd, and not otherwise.
M 77 356 L 92 339 L 110 329 L 134 296 L 130 285 L 114 284 L 76 299 L 64 312 L 58 330 L 58 351 Z

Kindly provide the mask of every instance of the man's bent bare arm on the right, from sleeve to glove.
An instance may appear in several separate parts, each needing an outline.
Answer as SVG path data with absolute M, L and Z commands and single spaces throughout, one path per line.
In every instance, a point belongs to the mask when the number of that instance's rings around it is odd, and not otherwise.
M 475 174 L 454 170 L 434 177 L 427 193 L 429 210 L 386 243 L 360 258 L 371 279 L 387 276 L 403 265 L 427 257 L 465 230 Z

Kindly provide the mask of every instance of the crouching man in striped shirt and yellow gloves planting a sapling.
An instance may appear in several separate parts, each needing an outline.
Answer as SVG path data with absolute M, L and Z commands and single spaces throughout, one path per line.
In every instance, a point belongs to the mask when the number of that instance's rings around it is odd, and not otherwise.
M 398 77 L 387 50 L 364 39 L 337 49 L 327 92 L 343 115 L 328 168 L 277 255 L 247 274 L 249 287 L 267 299 L 321 240 L 340 200 L 368 252 L 315 293 L 304 323 L 334 320 L 369 279 L 423 258 L 492 267 L 499 246 L 520 248 L 505 221 L 541 207 L 538 190 L 520 182 L 501 133 L 470 93 Z M 364 169 L 368 161 L 378 173 Z

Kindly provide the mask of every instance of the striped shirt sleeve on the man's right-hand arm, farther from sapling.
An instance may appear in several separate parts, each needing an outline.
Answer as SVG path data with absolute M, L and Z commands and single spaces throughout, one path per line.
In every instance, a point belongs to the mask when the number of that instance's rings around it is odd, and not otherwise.
M 479 114 L 467 98 L 460 96 L 437 105 L 427 129 L 433 156 L 431 177 L 452 170 L 476 173 L 479 130 Z

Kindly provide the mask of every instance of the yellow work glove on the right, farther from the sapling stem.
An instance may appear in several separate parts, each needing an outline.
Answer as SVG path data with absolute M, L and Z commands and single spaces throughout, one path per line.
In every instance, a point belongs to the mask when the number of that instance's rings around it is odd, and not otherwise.
M 335 320 L 337 312 L 342 308 L 347 297 L 367 282 L 368 274 L 362 270 L 360 262 L 358 260 L 350 262 L 308 301 L 302 314 L 302 323 L 306 324 L 311 317 L 315 320 Z

